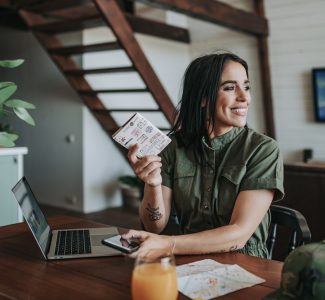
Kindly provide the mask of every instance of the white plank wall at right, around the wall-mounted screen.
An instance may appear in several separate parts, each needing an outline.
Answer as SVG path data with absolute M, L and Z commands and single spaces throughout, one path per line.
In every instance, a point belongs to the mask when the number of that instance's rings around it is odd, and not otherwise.
M 311 69 L 325 67 L 325 1 L 265 1 L 277 139 L 286 162 L 312 148 L 325 160 L 325 124 L 316 123 Z

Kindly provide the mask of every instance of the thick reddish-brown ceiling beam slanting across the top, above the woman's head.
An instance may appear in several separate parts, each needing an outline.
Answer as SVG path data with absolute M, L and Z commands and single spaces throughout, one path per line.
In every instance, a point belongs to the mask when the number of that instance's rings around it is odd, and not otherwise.
M 193 18 L 212 22 L 253 35 L 268 35 L 267 20 L 255 13 L 234 8 L 215 0 L 133 0 L 169 9 Z

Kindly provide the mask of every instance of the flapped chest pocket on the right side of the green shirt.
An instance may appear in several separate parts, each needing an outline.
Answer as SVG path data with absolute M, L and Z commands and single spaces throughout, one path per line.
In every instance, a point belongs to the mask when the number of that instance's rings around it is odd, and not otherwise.
M 230 221 L 240 184 L 246 174 L 245 165 L 226 166 L 219 178 L 218 214 Z

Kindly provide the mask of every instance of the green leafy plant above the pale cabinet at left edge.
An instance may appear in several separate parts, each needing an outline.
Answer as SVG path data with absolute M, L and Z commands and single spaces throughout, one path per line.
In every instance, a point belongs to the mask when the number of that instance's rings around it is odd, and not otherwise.
M 23 62 L 23 59 L 0 60 L 0 68 L 16 68 Z M 28 112 L 28 109 L 35 109 L 35 106 L 20 99 L 12 99 L 11 96 L 16 90 L 17 85 L 14 82 L 0 82 L 0 147 L 14 147 L 18 139 L 18 135 L 13 133 L 4 121 L 8 116 L 15 115 L 29 125 L 35 126 L 35 121 Z

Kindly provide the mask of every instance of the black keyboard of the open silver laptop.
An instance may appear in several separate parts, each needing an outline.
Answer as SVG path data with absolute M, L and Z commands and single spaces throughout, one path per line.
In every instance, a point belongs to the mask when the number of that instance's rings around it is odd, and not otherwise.
M 55 255 L 91 253 L 89 230 L 60 230 L 55 246 Z

